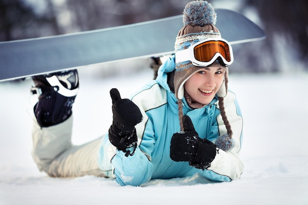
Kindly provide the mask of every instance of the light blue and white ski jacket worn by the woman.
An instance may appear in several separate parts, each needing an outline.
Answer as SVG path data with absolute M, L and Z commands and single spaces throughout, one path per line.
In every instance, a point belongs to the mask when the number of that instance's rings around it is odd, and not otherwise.
M 98 154 L 98 164 L 106 176 L 112 176 L 120 185 L 139 186 L 150 179 L 169 179 L 192 176 L 196 173 L 214 180 L 231 181 L 240 178 L 244 166 L 239 158 L 242 145 L 243 118 L 236 96 L 228 90 L 224 97 L 225 112 L 230 122 L 235 146 L 219 149 L 211 166 L 205 170 L 189 166 L 188 162 L 175 162 L 170 158 L 170 141 L 180 131 L 178 104 L 167 83 L 167 73 L 175 70 L 174 56 L 158 70 L 156 80 L 138 90 L 131 100 L 139 107 L 143 120 L 136 125 L 138 146 L 132 156 L 112 146 L 104 136 Z M 218 99 L 200 109 L 190 108 L 183 99 L 183 112 L 191 118 L 200 138 L 215 143 L 227 130 L 220 116 Z

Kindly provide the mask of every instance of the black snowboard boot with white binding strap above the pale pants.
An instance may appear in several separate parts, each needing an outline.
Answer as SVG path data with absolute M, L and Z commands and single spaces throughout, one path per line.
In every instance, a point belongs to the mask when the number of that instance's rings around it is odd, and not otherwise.
M 79 80 L 77 70 L 32 77 L 32 94 L 38 95 L 34 114 L 41 127 L 59 124 L 72 115 Z

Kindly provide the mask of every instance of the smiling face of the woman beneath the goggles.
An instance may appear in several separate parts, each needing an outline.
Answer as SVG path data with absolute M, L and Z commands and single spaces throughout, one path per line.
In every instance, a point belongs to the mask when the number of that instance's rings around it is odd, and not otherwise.
M 204 67 L 185 82 L 184 88 L 192 102 L 209 104 L 222 85 L 223 78 L 224 73 L 221 66 Z

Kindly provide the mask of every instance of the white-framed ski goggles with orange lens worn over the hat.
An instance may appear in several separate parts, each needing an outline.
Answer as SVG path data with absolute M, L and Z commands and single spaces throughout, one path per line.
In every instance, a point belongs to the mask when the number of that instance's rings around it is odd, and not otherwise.
M 222 38 L 207 38 L 185 50 L 176 52 L 175 62 L 190 60 L 195 66 L 209 66 L 219 57 L 220 62 L 224 63 L 225 66 L 231 65 L 233 62 L 231 45 Z

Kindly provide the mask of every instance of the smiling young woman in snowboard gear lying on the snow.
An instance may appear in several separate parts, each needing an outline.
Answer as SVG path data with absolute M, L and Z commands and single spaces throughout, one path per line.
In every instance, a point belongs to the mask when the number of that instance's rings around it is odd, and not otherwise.
M 188 3 L 183 19 L 175 55 L 131 99 L 110 90 L 113 123 L 108 134 L 88 144 L 71 144 L 77 71 L 33 77 L 32 90 L 41 94 L 34 106 L 32 156 L 41 171 L 113 177 L 133 186 L 196 173 L 216 181 L 240 178 L 243 119 L 227 89 L 232 48 L 207 1 Z

